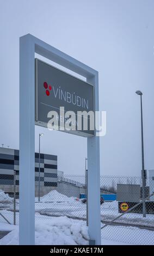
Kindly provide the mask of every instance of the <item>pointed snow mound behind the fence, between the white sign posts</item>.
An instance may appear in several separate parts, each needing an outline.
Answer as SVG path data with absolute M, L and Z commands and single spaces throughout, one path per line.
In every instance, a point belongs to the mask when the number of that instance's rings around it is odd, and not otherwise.
M 40 197 L 40 202 L 70 202 L 72 198 L 65 196 L 65 194 L 60 194 L 57 190 L 52 190 L 45 196 Z M 35 199 L 38 201 L 38 198 Z

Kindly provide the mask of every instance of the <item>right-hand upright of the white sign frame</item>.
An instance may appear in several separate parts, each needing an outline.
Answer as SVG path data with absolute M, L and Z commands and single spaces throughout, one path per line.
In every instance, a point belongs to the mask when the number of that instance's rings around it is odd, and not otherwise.
M 95 87 L 95 111 L 98 103 L 98 73 L 87 78 L 87 82 Z M 100 209 L 100 137 L 87 138 L 88 155 L 88 225 L 90 240 L 101 245 L 101 209 Z

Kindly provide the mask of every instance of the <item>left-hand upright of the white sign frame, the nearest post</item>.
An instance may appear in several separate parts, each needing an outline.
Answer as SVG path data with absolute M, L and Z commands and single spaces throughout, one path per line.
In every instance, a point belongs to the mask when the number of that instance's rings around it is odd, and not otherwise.
M 35 64 L 32 36 L 20 38 L 19 244 L 35 244 Z

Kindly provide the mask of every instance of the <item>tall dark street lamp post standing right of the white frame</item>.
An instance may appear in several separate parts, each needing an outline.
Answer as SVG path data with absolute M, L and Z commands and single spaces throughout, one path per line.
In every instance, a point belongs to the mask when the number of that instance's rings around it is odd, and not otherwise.
M 142 95 L 143 93 L 140 90 L 135 92 L 140 96 L 140 109 L 141 109 L 141 179 L 142 179 L 142 200 L 143 200 L 143 217 L 146 217 L 146 206 L 145 206 L 145 186 L 146 186 L 146 170 L 144 169 L 144 143 L 143 143 L 143 110 L 142 110 Z

